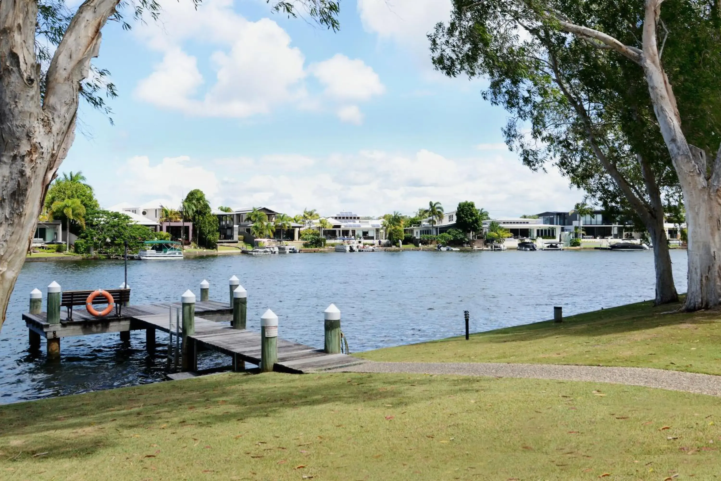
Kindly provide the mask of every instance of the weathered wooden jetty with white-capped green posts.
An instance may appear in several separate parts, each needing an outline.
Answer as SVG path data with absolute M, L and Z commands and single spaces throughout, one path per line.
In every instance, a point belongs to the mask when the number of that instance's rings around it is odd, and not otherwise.
M 361 359 L 341 353 L 340 311 L 335 306 L 331 305 L 332 309 L 329 307 L 325 313 L 326 348 L 317 349 L 277 338 L 278 317 L 270 309 L 264 314 L 261 323 L 265 326 L 266 316 L 270 313 L 271 317 L 275 317 L 275 330 L 273 327 L 262 327 L 261 332 L 245 329 L 247 293 L 239 286 L 235 276 L 230 280 L 230 288 L 235 296 L 233 304 L 207 300 L 208 283 L 203 281 L 201 299 L 206 300 L 195 302 L 195 295 L 186 291 L 182 302 L 127 305 L 106 317 L 93 316 L 85 309 L 77 309 L 70 315 L 57 312 L 60 301 L 53 300 L 52 287 L 48 288 L 48 310 L 51 312 L 48 316 L 48 312 L 40 311 L 38 301 L 42 299 L 38 299 L 37 295 L 41 293 L 35 289 L 31 293 L 31 312 L 22 314 L 22 319 L 25 320 L 32 348 L 40 348 L 42 337 L 48 340 L 49 358 L 60 356 L 62 337 L 120 332 L 121 338 L 129 339 L 132 330 L 145 330 L 147 348 L 152 350 L 155 347 L 155 333 L 159 330 L 170 335 L 170 344 L 173 343 L 173 336 L 178 337 L 179 343 L 182 337 L 183 371 L 197 369 L 198 352 L 202 350 L 214 350 L 230 356 L 236 371 L 243 370 L 246 362 L 257 366 L 267 364 L 264 363 L 264 355 L 270 359 L 269 368 L 265 370 L 298 374 L 362 362 Z M 54 290 L 59 292 L 58 289 Z M 180 322 L 177 327 L 174 322 L 177 309 L 182 311 L 182 329 Z

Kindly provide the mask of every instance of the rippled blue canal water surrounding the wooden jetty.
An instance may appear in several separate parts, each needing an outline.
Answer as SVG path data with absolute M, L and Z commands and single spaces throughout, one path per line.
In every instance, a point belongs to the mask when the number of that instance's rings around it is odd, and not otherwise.
M 673 250 L 671 258 L 683 292 L 686 251 Z M 353 352 L 461 335 L 464 310 L 471 330 L 484 331 L 549 319 L 554 305 L 575 314 L 654 295 L 650 251 L 331 252 L 128 261 L 131 304 L 180 301 L 187 288 L 199 295 L 203 278 L 211 283 L 211 299 L 227 301 L 231 275 L 248 291 L 249 329 L 260 330 L 270 307 L 281 337 L 322 347 L 322 312 L 334 302 Z M 151 356 L 143 331 L 133 332 L 129 344 L 118 334 L 63 338 L 59 363 L 32 355 L 21 314 L 32 288 L 45 295 L 51 281 L 65 290 L 116 287 L 123 262 L 25 264 L 0 332 L 0 403 L 164 379 L 167 336 L 160 332 Z M 200 358 L 200 368 L 228 363 L 213 353 Z

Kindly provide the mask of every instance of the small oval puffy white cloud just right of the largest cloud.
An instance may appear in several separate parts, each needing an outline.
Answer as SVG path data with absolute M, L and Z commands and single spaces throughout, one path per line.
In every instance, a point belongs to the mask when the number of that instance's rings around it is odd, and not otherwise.
M 340 53 L 319 63 L 309 70 L 325 86 L 325 94 L 338 100 L 369 100 L 385 92 L 378 74 L 359 58 Z

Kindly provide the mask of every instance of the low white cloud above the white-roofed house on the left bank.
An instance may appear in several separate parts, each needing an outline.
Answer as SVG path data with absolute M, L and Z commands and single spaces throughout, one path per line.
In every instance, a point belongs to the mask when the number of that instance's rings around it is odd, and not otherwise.
M 122 179 L 120 189 L 113 193 L 98 193 L 101 200 L 120 201 L 141 205 L 149 198 L 168 198 L 180 203 L 182 195 L 190 190 L 200 189 L 208 199 L 215 199 L 220 182 L 215 172 L 198 165 L 192 165 L 190 157 L 165 157 L 159 164 L 152 165 L 147 156 L 134 156 L 121 164 L 116 172 Z M 122 193 L 123 198 L 118 198 Z

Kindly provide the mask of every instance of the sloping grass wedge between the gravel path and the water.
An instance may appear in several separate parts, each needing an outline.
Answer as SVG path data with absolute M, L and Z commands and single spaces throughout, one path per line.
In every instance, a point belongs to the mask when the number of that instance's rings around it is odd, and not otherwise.
M 464 337 L 358 353 L 373 361 L 635 366 L 721 374 L 721 311 L 641 302 Z

